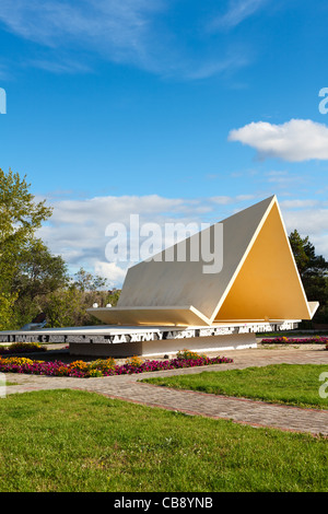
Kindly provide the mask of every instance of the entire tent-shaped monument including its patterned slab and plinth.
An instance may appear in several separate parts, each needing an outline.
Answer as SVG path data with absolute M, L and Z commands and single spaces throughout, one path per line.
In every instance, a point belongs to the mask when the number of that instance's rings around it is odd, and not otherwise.
M 104 326 L 1 332 L 0 340 L 62 341 L 81 355 L 154 357 L 251 348 L 256 332 L 312 319 L 318 302 L 307 301 L 276 196 L 220 222 L 219 246 L 218 227 L 131 267 L 116 307 L 87 309 Z M 188 253 L 201 236 L 214 257 L 220 253 L 220 269 L 209 271 L 200 252 Z

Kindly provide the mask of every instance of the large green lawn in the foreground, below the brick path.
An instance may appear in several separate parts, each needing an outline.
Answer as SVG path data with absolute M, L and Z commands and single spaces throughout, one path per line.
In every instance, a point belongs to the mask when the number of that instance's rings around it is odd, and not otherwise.
M 78 390 L 0 399 L 0 491 L 327 491 L 327 440 Z

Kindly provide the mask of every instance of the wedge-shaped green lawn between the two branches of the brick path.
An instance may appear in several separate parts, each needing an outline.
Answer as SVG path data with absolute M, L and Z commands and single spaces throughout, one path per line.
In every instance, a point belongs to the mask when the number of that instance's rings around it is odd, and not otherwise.
M 144 382 L 178 389 L 328 409 L 328 398 L 319 396 L 319 387 L 324 384 L 319 381 L 319 376 L 324 372 L 328 372 L 327 365 L 274 364 L 265 367 L 147 378 Z

